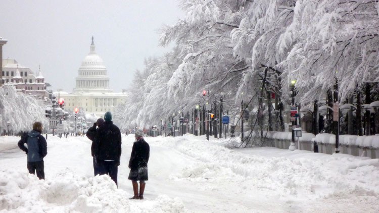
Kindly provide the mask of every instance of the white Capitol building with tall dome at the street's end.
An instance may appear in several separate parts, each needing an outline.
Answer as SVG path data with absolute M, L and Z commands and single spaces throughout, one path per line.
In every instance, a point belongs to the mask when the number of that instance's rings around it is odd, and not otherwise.
M 113 92 L 109 87 L 107 68 L 102 58 L 96 54 L 95 45 L 92 42 L 89 54 L 84 58 L 75 78 L 76 86 L 72 93 L 59 89 L 56 96 L 65 99 L 65 110 L 73 112 L 75 108 L 84 110 L 88 115 L 103 117 L 108 111 L 114 112 L 117 105 L 124 103 L 126 93 Z

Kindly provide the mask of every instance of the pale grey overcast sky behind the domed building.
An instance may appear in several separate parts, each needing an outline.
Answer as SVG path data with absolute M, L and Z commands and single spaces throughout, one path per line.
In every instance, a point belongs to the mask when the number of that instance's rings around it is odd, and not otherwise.
M 177 0 L 2 0 L 0 37 L 3 58 L 15 59 L 34 73 L 41 66 L 51 89 L 72 92 L 89 52 L 91 36 L 115 92 L 128 88 L 144 59 L 161 56 L 157 30 L 173 25 L 183 12 Z

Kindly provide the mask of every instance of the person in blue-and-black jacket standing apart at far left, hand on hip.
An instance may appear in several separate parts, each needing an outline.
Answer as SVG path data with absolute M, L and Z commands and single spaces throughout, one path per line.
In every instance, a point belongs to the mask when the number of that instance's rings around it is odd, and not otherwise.
M 33 124 L 33 130 L 29 133 L 25 133 L 17 145 L 28 155 L 27 168 L 29 173 L 33 175 L 37 173 L 39 179 L 45 179 L 43 157 L 48 154 L 48 144 L 41 135 L 41 132 L 42 123 L 35 122 Z M 27 147 L 25 147 L 25 143 Z

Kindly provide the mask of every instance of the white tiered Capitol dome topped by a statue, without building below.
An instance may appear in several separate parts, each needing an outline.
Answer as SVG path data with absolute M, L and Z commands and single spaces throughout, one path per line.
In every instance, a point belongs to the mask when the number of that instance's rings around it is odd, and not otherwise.
M 78 76 L 75 79 L 74 93 L 113 91 L 109 88 L 109 77 L 103 59 L 96 54 L 93 36 L 89 46 L 89 54 L 82 61 L 78 69 Z

